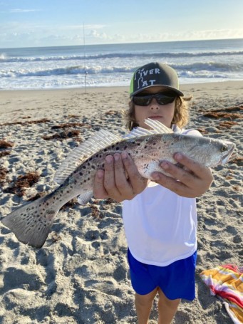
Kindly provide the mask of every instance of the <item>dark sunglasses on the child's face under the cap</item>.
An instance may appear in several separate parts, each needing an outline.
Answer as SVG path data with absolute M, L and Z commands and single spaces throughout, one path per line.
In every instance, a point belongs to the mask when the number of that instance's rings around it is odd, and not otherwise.
M 175 93 L 156 93 L 155 95 L 133 95 L 132 101 L 135 105 L 139 106 L 148 106 L 152 102 L 152 99 L 155 98 L 159 105 L 167 105 L 168 103 L 172 103 L 177 95 Z

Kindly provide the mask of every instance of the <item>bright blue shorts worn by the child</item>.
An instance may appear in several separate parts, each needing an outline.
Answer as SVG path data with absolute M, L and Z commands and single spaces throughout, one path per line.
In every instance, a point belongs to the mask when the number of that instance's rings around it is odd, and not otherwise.
M 169 299 L 195 298 L 195 268 L 197 251 L 192 256 L 168 266 L 152 266 L 136 260 L 128 249 L 128 263 L 133 289 L 140 295 L 160 287 Z

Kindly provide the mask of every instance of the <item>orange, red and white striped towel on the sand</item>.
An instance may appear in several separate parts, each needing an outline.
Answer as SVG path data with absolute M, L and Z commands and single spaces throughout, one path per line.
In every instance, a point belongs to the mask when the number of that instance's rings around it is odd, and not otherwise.
M 226 264 L 202 271 L 200 277 L 222 299 L 232 321 L 243 324 L 243 268 Z

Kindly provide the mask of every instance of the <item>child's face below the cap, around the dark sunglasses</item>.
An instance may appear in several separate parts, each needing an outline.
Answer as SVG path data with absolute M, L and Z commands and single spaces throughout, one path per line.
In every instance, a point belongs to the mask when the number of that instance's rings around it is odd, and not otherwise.
M 150 95 L 156 93 L 163 93 L 167 95 L 167 93 L 171 94 L 170 90 L 167 90 L 163 87 L 151 87 L 144 90 L 138 95 Z M 145 124 L 144 120 L 146 118 L 151 118 L 153 120 L 158 120 L 162 122 L 167 127 L 171 127 L 171 122 L 175 113 L 175 100 L 172 103 L 168 103 L 167 105 L 160 105 L 157 103 L 155 98 L 152 98 L 152 101 L 147 106 L 135 105 L 135 120 L 138 122 L 140 127 L 150 129 L 148 125 Z

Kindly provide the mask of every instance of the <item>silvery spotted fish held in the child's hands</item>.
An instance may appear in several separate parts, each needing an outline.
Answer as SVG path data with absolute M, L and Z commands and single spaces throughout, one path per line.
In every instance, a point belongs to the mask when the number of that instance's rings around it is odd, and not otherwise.
M 173 159 L 176 152 L 206 167 L 215 167 L 228 162 L 235 148 L 226 140 L 174 133 L 157 120 L 148 118 L 145 123 L 149 130 L 136 127 L 125 137 L 103 129 L 96 132 L 61 163 L 54 177 L 59 186 L 53 192 L 15 209 L 1 219 L 2 224 L 20 242 L 39 249 L 64 204 L 75 197 L 80 204 L 87 204 L 92 198 L 95 173 L 104 169 L 105 156 L 127 152 L 141 176 L 152 180 L 153 172 L 164 172 L 159 166 L 162 160 L 177 164 Z

